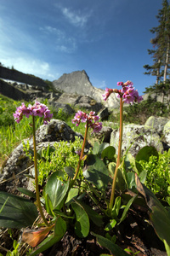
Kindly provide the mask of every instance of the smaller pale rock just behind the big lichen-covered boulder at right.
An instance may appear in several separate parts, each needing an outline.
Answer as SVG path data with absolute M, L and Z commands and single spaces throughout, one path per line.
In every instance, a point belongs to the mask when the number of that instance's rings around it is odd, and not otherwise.
M 146 120 L 144 127 L 146 129 L 155 129 L 159 134 L 162 134 L 162 131 L 164 129 L 164 125 L 167 124 L 169 119 L 164 118 L 164 117 L 155 117 L 155 116 L 150 116 L 149 119 Z

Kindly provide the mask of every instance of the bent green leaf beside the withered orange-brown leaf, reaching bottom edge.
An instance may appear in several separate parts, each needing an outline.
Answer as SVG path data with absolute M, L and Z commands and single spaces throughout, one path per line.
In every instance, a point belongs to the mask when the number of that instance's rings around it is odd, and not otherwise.
M 57 218 L 54 227 L 54 236 L 48 236 L 45 240 L 43 240 L 37 247 L 33 253 L 29 254 L 30 256 L 36 256 L 37 253 L 42 253 L 47 250 L 49 247 L 52 247 L 54 243 L 61 240 L 61 238 L 65 235 L 66 231 L 66 223 L 61 217 Z

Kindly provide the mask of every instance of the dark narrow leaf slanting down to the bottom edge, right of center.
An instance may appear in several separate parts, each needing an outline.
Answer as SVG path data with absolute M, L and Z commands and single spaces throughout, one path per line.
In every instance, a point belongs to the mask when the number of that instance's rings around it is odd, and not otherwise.
M 118 247 L 115 243 L 105 238 L 104 236 L 99 236 L 97 234 L 94 234 L 94 232 L 92 232 L 91 234 L 97 238 L 97 241 L 101 247 L 105 247 L 106 249 L 111 251 L 113 255 L 129 256 L 129 254 L 127 254 L 121 247 Z

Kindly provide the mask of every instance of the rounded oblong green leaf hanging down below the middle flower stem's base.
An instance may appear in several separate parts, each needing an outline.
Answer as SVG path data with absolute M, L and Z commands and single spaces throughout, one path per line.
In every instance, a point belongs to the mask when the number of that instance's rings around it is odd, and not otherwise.
M 77 236 L 81 238 L 88 236 L 90 224 L 87 212 L 77 201 L 72 202 L 71 207 L 77 216 L 77 222 L 75 224 L 75 232 Z

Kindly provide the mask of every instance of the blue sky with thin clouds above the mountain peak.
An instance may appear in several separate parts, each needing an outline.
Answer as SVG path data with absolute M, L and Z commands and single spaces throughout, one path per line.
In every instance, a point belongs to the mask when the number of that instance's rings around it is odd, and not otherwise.
M 150 29 L 161 0 L 1 0 L 0 62 L 53 81 L 84 69 L 98 88 L 155 83 Z

